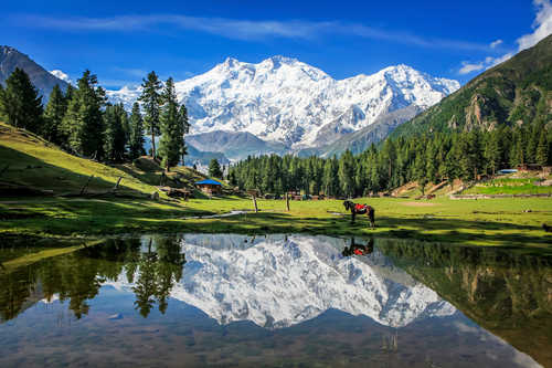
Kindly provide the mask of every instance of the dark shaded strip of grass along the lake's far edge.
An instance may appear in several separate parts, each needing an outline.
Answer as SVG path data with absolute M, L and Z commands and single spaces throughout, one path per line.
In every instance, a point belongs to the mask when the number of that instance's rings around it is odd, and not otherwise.
M 17 209 L 18 215 L 2 221 L 4 233 L 28 234 L 116 234 L 125 232 L 229 232 L 246 234 L 310 233 L 326 235 L 368 235 L 424 240 L 443 243 L 477 243 L 514 248 L 534 248 L 552 252 L 552 236 L 539 227 L 448 218 L 376 218 L 378 228 L 369 228 L 367 218 L 297 217 L 285 212 L 258 212 L 217 219 L 189 219 L 213 214 L 178 203 L 162 202 L 162 208 L 145 200 L 79 200 L 32 204 Z M 14 209 L 15 210 L 15 209 Z M 41 213 L 41 217 L 25 213 Z M 528 246 L 529 245 L 529 246 Z

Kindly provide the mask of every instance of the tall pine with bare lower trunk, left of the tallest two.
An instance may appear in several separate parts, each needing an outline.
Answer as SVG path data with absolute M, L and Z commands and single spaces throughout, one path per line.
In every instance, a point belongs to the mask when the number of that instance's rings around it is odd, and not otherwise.
M 147 80 L 144 80 L 142 93 L 138 98 L 142 103 L 146 116 L 144 123 L 146 129 L 151 135 L 151 156 L 156 158 L 156 135 L 160 134 L 160 106 L 161 106 L 161 82 L 159 81 L 156 72 L 148 74 Z

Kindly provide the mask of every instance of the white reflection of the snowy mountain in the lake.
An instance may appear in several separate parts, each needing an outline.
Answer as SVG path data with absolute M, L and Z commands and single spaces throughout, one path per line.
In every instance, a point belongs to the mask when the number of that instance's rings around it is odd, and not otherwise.
M 343 257 L 346 241 L 327 236 L 185 235 L 188 263 L 171 297 L 220 324 L 251 320 L 282 328 L 335 308 L 402 327 L 456 309 L 375 251 Z M 135 277 L 137 280 L 137 277 Z M 125 273 L 108 284 L 131 290 Z

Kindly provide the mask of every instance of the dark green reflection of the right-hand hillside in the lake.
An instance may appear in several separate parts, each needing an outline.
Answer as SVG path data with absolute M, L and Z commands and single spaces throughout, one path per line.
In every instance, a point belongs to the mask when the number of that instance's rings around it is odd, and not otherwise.
M 379 250 L 478 325 L 552 367 L 552 257 L 380 240 Z

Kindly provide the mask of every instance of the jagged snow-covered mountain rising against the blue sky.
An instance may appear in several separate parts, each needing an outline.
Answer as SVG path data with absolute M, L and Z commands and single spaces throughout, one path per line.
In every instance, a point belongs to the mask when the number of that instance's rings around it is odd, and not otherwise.
M 176 83 L 192 134 L 248 132 L 293 148 L 328 145 L 411 105 L 425 109 L 459 86 L 406 65 L 337 81 L 284 56 L 258 64 L 229 57 L 204 74 Z M 131 88 L 108 92 L 112 101 L 127 107 L 138 94 Z

